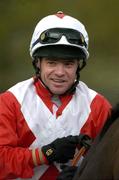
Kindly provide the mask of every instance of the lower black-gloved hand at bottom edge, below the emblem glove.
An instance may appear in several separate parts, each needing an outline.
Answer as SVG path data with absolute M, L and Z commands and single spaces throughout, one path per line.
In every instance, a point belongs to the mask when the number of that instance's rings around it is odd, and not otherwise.
M 63 167 L 61 167 L 61 169 L 62 169 L 62 171 L 59 173 L 56 180 L 72 180 L 77 171 L 76 166 L 63 165 Z

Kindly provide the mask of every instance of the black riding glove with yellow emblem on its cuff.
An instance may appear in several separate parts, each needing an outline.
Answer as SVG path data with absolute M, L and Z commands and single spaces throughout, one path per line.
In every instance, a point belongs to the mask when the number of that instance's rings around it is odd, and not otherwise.
M 52 143 L 43 146 L 42 152 L 49 163 L 54 161 L 58 163 L 66 163 L 69 159 L 74 157 L 77 144 L 78 136 L 58 138 Z

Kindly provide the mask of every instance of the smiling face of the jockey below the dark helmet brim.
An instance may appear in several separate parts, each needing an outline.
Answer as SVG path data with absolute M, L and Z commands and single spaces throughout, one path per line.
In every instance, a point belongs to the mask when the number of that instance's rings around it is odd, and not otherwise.
M 79 61 L 77 59 L 42 58 L 37 66 L 44 84 L 55 95 L 64 94 L 74 83 Z

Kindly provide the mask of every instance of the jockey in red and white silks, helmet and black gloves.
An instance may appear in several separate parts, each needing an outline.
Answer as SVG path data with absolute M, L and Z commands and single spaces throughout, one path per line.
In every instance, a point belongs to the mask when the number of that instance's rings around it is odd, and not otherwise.
M 35 76 L 0 95 L 0 179 L 54 180 L 79 134 L 95 138 L 111 105 L 80 81 L 88 34 L 74 17 L 41 19 L 30 43 Z

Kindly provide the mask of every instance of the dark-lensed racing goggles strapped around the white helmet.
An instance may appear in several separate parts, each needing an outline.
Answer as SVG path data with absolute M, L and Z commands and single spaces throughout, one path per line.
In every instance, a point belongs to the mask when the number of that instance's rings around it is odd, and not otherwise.
M 33 43 L 32 47 L 34 47 L 38 42 L 40 42 L 41 44 L 57 43 L 62 36 L 65 36 L 70 44 L 85 46 L 87 48 L 87 44 L 82 33 L 77 30 L 68 28 L 52 28 L 45 30 Z

